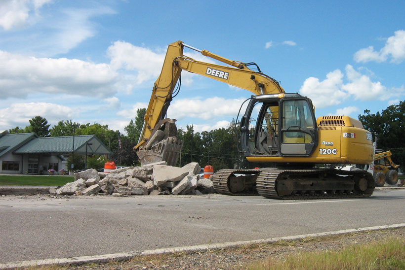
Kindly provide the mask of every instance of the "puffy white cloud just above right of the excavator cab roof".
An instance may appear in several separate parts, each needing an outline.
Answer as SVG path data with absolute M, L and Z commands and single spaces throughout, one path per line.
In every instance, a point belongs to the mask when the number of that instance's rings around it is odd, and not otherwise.
M 341 90 L 342 85 L 343 73 L 336 69 L 327 73 L 326 79 L 323 81 L 315 77 L 306 79 L 299 92 L 309 97 L 315 107 L 323 108 L 340 104 L 347 97 L 346 93 Z

